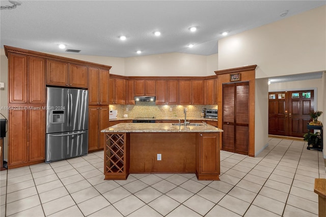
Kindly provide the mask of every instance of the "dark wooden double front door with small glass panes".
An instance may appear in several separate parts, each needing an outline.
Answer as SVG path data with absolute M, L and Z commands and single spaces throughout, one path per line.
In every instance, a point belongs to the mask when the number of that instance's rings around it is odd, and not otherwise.
M 303 137 L 314 111 L 314 91 L 268 93 L 268 134 Z

